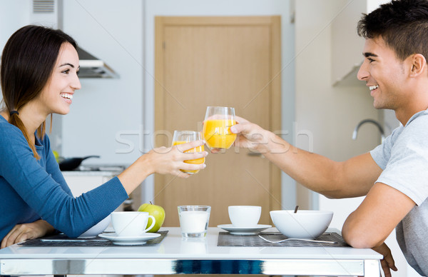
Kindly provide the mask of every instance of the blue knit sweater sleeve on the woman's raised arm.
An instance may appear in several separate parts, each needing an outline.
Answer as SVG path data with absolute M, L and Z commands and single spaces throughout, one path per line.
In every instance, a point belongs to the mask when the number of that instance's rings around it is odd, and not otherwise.
M 38 153 L 46 158 L 45 166 L 34 158 L 23 134 L 15 126 L 4 122 L 0 124 L 0 137 L 0 178 L 3 181 L 0 185 L 6 188 L 6 193 L 0 195 L 0 201 L 8 198 L 9 203 L 22 203 L 15 208 L 34 210 L 40 218 L 67 236 L 79 236 L 128 198 L 117 177 L 73 198 L 58 165 L 54 163 L 47 137 L 44 147 L 38 149 Z M 10 189 L 6 187 L 8 185 Z M 16 201 L 11 198 L 16 198 Z M 0 219 L 4 220 L 11 222 L 1 222 L 2 228 L 13 228 L 19 223 L 14 222 L 16 218 L 7 216 Z M 0 230 L 0 234 L 6 233 Z

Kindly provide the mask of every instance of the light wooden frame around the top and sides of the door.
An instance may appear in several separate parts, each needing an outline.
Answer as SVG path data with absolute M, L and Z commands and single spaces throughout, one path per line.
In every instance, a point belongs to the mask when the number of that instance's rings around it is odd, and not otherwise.
M 270 53 L 271 68 L 270 68 L 270 126 L 271 131 L 279 131 L 281 129 L 281 17 L 280 16 L 155 16 L 155 132 L 165 129 L 163 126 L 163 110 L 159 109 L 164 106 L 163 99 L 163 29 L 165 26 L 189 26 L 189 25 L 259 25 L 269 26 L 271 31 L 270 36 Z M 281 171 L 280 168 L 270 163 L 270 178 L 272 186 L 270 186 L 270 197 L 279 196 L 281 199 Z M 164 176 L 155 174 L 153 193 L 156 193 L 156 183 L 163 183 Z M 156 195 L 154 195 L 156 198 Z M 275 197 L 272 197 L 275 199 Z M 270 211 L 280 210 L 282 208 L 281 200 L 270 201 Z

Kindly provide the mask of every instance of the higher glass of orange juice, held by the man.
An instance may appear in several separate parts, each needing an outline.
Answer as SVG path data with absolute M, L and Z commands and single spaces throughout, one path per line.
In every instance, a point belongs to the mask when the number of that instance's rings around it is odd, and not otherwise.
M 235 124 L 235 109 L 208 106 L 202 131 L 207 146 L 216 150 L 230 148 L 236 139 L 230 127 Z

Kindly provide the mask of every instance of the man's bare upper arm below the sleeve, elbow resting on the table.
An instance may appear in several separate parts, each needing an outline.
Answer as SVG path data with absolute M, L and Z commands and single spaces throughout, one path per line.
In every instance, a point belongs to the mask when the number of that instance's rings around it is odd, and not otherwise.
M 342 236 L 353 247 L 380 246 L 415 205 L 397 189 L 375 183 L 361 205 L 348 216 Z

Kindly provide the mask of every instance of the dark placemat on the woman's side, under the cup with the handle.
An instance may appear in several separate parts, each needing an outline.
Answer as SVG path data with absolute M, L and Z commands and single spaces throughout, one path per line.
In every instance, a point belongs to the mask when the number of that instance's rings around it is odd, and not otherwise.
M 153 238 L 139 246 L 153 246 L 154 244 L 160 243 L 163 238 L 165 238 L 168 231 L 159 231 L 157 233 L 160 233 L 161 236 Z M 35 238 L 18 244 L 21 246 L 119 246 L 99 236 L 96 238 L 68 238 L 68 236 L 64 234 L 45 238 Z

